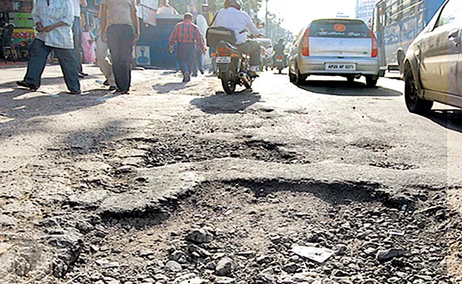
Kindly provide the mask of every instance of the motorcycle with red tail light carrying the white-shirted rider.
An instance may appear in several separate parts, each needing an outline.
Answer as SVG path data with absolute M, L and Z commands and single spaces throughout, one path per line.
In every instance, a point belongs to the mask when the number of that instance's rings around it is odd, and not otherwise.
M 247 73 L 249 56 L 240 53 L 235 46 L 226 41 L 220 41 L 217 45 L 216 63 L 218 76 L 226 94 L 234 94 L 237 85 L 246 89 L 252 87 L 254 78 Z

